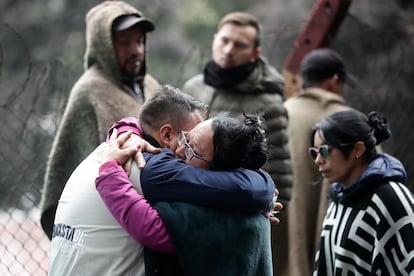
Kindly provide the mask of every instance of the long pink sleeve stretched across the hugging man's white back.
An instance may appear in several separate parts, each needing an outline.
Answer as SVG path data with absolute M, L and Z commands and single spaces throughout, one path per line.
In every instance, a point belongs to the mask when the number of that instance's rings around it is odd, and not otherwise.
M 158 211 L 135 190 L 117 161 L 101 165 L 95 184 L 109 211 L 131 237 L 161 253 L 175 252 Z

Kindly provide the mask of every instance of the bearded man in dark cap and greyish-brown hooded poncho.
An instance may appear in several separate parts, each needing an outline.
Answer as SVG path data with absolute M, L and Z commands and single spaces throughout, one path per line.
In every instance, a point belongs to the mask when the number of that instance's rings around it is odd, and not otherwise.
M 49 238 L 59 197 L 73 169 L 114 121 L 137 117 L 158 82 L 146 74 L 146 33 L 154 25 L 122 1 L 102 2 L 86 15 L 85 71 L 73 86 L 46 167 L 41 224 Z

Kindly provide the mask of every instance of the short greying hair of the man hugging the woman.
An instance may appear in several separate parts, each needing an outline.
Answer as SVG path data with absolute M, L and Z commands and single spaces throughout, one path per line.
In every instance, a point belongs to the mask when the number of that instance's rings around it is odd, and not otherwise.
M 152 130 L 164 124 L 181 129 L 188 114 L 198 111 L 203 119 L 209 117 L 208 105 L 171 85 L 162 85 L 141 107 L 139 121 Z

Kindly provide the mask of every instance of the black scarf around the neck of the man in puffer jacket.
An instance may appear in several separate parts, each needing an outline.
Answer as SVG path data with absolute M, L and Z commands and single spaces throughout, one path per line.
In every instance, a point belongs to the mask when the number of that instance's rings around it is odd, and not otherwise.
M 215 88 L 229 88 L 244 81 L 256 68 L 256 62 L 222 69 L 214 61 L 204 67 L 204 82 Z

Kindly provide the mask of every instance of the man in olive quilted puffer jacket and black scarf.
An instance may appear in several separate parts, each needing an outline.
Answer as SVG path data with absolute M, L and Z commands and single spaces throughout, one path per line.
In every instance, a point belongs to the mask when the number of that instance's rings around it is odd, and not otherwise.
M 232 116 L 259 113 L 265 119 L 270 155 L 263 166 L 279 189 L 288 208 L 292 168 L 288 148 L 288 117 L 283 106 L 284 79 L 261 55 L 261 26 L 245 12 L 229 13 L 218 24 L 212 43 L 212 60 L 204 73 L 188 80 L 183 91 L 209 105 L 211 114 L 227 111 Z M 272 228 L 274 270 L 287 252 L 287 218 Z

